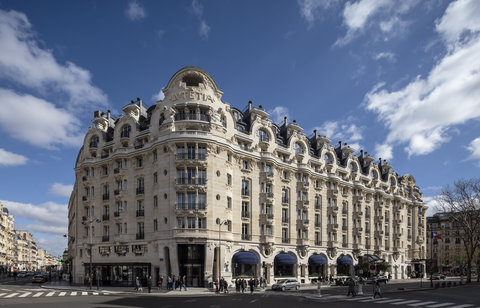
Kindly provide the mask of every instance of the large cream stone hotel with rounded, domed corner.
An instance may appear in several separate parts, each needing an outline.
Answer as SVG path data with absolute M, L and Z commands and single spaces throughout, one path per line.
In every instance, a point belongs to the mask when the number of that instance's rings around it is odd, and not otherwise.
M 180 274 L 200 286 L 219 271 L 310 282 L 372 254 L 395 279 L 423 272 L 427 207 L 411 175 L 295 121 L 272 123 L 261 106 L 222 102 L 199 68 L 163 92 L 118 119 L 94 113 L 69 201 L 75 282 L 87 281 L 90 246 L 101 284 Z

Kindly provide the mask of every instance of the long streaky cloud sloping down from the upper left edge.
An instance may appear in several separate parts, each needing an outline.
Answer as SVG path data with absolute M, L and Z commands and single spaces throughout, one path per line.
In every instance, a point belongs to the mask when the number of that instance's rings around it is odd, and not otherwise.
M 106 95 L 92 84 L 89 71 L 56 61 L 39 47 L 27 16 L 0 10 L 0 78 L 43 95 L 60 97 L 64 108 L 92 110 L 107 104 Z

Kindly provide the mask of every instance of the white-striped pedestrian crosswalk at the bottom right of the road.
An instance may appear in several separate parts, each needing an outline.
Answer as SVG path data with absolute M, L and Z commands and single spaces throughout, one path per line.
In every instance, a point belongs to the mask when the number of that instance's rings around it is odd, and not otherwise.
M 397 307 L 419 307 L 419 308 L 480 308 L 478 303 L 454 303 L 454 302 L 439 302 L 425 299 L 406 299 L 406 298 L 393 298 L 393 297 L 377 297 L 372 298 L 369 296 L 356 296 L 347 297 L 345 295 L 323 295 L 318 296 L 309 294 L 306 296 L 308 299 L 318 302 L 358 302 L 368 304 L 380 304 L 380 305 L 392 305 Z

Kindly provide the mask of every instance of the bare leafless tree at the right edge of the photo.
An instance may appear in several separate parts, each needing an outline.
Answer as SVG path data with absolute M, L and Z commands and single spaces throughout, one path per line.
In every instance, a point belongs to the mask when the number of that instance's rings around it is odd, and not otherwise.
M 472 265 L 480 241 L 480 178 L 455 181 L 437 197 L 440 209 L 446 213 L 463 242 L 466 257 L 467 282 L 472 281 Z

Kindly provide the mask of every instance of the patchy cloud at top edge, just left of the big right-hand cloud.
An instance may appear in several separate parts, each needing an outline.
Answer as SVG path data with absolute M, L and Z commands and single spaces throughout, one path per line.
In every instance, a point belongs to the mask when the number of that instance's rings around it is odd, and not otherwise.
M 343 9 L 343 23 L 347 27 L 344 37 L 337 39 L 334 46 L 344 46 L 365 32 L 366 28 L 378 28 L 384 34 L 404 32 L 408 22 L 402 19 L 418 3 L 418 0 L 359 0 L 347 2 Z

